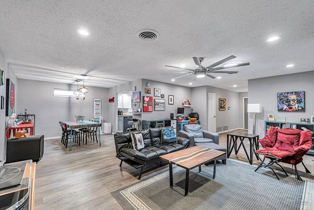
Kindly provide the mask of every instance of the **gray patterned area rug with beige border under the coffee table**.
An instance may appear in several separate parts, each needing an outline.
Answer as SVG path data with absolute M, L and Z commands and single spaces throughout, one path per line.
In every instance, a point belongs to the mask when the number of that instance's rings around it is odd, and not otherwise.
M 313 210 L 314 181 L 279 174 L 256 166 L 227 160 L 190 171 L 188 194 L 170 188 L 168 168 L 111 192 L 125 210 Z M 174 184 L 184 191 L 185 170 L 174 166 Z M 182 188 L 182 189 L 181 189 Z

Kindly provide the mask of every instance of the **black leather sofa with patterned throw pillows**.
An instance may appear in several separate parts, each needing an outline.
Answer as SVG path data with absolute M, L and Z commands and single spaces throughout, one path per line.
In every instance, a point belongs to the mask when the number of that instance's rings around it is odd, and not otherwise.
M 132 148 L 131 133 L 139 131 L 127 131 L 114 134 L 114 142 L 116 146 L 116 157 L 132 167 L 141 168 L 138 179 L 141 179 L 143 167 L 145 165 L 161 162 L 159 155 L 170 152 L 183 150 L 189 146 L 189 140 L 183 137 L 177 137 L 177 143 L 163 143 L 161 144 L 161 128 L 150 128 L 141 130 L 144 148 L 135 150 Z

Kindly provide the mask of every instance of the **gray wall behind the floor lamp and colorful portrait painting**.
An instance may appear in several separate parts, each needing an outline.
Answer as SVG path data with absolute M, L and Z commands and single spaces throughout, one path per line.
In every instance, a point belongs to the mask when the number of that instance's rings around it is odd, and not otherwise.
M 283 76 L 266 77 L 248 81 L 248 103 L 262 104 L 262 113 L 256 114 L 256 133 L 264 136 L 264 121 L 268 114 L 276 117 L 286 117 L 287 122 L 300 122 L 301 118 L 314 116 L 314 71 Z M 278 112 L 277 92 L 305 91 L 306 112 Z M 249 132 L 253 129 L 253 114 L 249 114 Z

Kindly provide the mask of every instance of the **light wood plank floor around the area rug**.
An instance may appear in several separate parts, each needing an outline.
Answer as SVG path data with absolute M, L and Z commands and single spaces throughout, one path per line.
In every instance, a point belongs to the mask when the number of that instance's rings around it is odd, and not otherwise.
M 226 133 L 219 136 L 219 144 L 226 147 Z M 248 163 L 244 150 L 239 152 L 238 155 L 232 154 L 231 158 Z M 111 134 L 102 135 L 101 147 L 96 141 L 89 141 L 87 145 L 74 145 L 72 151 L 66 149 L 60 139 L 45 140 L 44 156 L 36 166 L 35 209 L 123 210 L 110 192 L 136 182 L 139 170 L 126 163 L 120 169 L 120 161 L 115 154 Z M 314 173 L 314 156 L 306 155 L 304 159 L 308 169 Z M 259 164 L 256 158 L 253 164 Z M 287 167 L 291 168 L 290 165 Z M 144 168 L 142 178 L 159 170 L 157 165 Z M 304 171 L 301 164 L 298 170 Z

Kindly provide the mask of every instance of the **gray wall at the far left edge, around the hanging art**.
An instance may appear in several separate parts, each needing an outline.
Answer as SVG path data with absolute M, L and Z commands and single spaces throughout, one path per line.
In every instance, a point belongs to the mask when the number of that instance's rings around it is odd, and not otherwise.
M 17 90 L 19 90 L 18 79 L 14 72 L 9 68 L 7 61 L 5 60 L 1 50 L 0 50 L 0 69 L 4 71 L 5 78 L 10 79 L 15 84 L 15 110 L 17 110 L 18 97 L 16 96 Z M 5 99 L 6 99 L 6 83 L 0 86 L 0 95 L 4 97 L 4 109 L 0 109 L 0 164 L 3 163 L 5 159 L 5 138 L 6 138 L 6 121 L 8 117 L 5 116 Z

